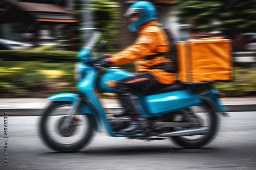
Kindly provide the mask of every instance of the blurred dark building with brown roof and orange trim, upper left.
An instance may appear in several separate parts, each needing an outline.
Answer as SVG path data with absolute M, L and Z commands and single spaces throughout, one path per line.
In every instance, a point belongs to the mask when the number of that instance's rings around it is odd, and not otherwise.
M 75 12 L 53 4 L 14 1 L 0 9 L 0 38 L 36 46 L 72 40 L 70 27 L 79 22 Z

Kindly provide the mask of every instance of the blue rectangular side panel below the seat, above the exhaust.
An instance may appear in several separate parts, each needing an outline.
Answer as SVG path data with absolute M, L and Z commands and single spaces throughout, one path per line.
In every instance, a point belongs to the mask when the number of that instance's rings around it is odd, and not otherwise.
M 144 97 L 144 107 L 146 107 L 149 115 L 145 116 L 157 116 L 158 114 L 169 113 L 195 106 L 202 102 L 203 100 L 192 90 L 178 90 L 148 95 Z

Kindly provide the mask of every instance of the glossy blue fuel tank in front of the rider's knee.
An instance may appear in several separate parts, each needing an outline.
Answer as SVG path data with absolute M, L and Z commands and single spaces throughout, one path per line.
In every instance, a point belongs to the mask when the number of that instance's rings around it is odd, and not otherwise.
M 109 87 L 108 82 L 109 81 L 118 82 L 124 79 L 125 77 L 129 77 L 132 75 L 133 75 L 132 73 L 129 73 L 122 69 L 117 69 L 117 68 L 106 69 L 98 83 L 98 90 L 103 93 L 116 93 L 115 87 Z

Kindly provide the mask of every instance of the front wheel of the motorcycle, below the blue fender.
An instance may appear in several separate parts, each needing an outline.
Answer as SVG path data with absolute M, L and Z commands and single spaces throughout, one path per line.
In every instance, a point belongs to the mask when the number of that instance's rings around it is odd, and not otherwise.
M 72 152 L 82 148 L 90 141 L 93 132 L 92 120 L 88 114 L 76 114 L 72 119 L 75 121 L 70 126 L 63 126 L 68 121 L 69 116 L 66 114 L 70 107 L 68 101 L 54 101 L 41 117 L 42 138 L 48 146 L 60 152 Z

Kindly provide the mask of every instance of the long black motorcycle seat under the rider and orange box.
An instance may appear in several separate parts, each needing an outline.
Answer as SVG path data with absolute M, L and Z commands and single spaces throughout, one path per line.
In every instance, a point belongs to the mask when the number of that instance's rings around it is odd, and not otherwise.
M 175 84 L 170 84 L 167 87 L 156 89 L 156 90 L 146 91 L 145 93 L 146 93 L 146 95 L 166 93 L 166 92 L 170 92 L 170 91 L 187 89 L 188 87 L 191 89 L 196 89 L 196 88 L 204 88 L 205 89 L 208 87 L 207 89 L 209 89 L 210 85 L 208 85 L 208 84 L 186 85 L 180 81 L 177 81 Z

